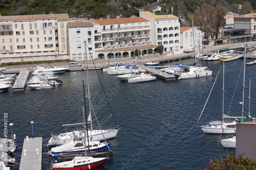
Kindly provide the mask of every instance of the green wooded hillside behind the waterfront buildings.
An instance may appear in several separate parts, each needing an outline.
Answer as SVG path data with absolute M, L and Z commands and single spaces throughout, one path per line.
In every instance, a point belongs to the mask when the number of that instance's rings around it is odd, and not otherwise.
M 223 6 L 226 11 L 238 14 L 256 11 L 255 0 L 165 0 L 161 11 L 156 14 L 174 14 L 179 16 L 184 26 L 190 26 L 194 11 L 204 3 L 216 7 Z M 99 19 L 139 16 L 139 10 L 148 10 L 148 6 L 157 0 L 2 0 L 1 16 L 36 15 L 68 13 L 70 17 Z M 238 5 L 242 5 L 239 9 Z M 186 22 L 186 20 L 188 22 Z

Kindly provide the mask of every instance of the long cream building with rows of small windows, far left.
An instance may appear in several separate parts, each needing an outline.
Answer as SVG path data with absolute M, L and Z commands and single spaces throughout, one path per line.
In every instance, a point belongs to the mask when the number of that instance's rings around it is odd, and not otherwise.
M 0 16 L 0 58 L 67 55 L 68 14 Z

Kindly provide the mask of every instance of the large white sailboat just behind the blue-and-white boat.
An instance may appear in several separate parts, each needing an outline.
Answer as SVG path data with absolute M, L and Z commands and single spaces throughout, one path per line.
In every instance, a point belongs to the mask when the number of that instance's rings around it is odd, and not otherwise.
M 86 43 L 86 41 L 85 41 L 85 43 Z M 87 51 L 86 51 L 86 54 L 87 54 Z M 87 70 L 88 70 L 88 66 L 87 66 Z M 87 77 L 88 77 L 87 79 L 89 79 L 88 72 L 89 71 L 87 71 Z M 90 98 L 89 83 L 88 83 L 88 96 Z M 90 107 L 89 107 L 90 108 L 90 113 L 89 113 L 89 117 L 88 117 L 88 122 L 90 122 L 90 125 L 91 125 L 90 130 L 88 130 L 88 133 L 87 133 L 87 135 L 90 137 L 89 141 L 102 141 L 102 140 L 105 140 L 105 139 L 115 138 L 116 135 L 117 135 L 118 130 L 120 129 L 120 127 L 117 124 L 116 124 L 117 127 L 113 128 L 113 129 L 105 129 L 105 130 L 103 130 L 103 129 L 94 130 L 93 129 L 93 124 L 92 124 L 92 111 L 93 111 L 93 109 L 91 107 L 90 99 L 89 99 L 89 105 L 90 105 Z M 111 113 L 112 113 L 112 110 L 111 110 Z M 112 116 L 113 116 L 113 113 L 112 113 Z M 69 125 L 63 125 L 63 126 L 81 125 L 81 124 L 82 123 L 69 124 Z M 52 137 L 48 141 L 47 145 L 48 146 L 58 146 L 58 145 L 62 145 L 62 144 L 68 143 L 70 141 L 73 141 L 74 138 L 81 140 L 84 137 L 85 136 L 84 136 L 84 133 L 83 133 L 82 130 L 61 133 L 59 135 L 52 135 Z

